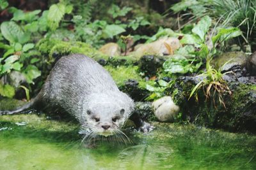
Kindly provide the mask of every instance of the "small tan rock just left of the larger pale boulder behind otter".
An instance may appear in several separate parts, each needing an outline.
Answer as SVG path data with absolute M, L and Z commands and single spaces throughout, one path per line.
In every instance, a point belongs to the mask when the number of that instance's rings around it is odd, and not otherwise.
M 116 43 L 107 43 L 99 49 L 100 52 L 109 56 L 121 55 L 120 46 Z

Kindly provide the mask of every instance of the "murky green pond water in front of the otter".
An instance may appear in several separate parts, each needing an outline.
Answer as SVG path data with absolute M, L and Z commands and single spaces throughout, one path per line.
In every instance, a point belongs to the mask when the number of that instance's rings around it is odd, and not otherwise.
M 101 141 L 86 148 L 76 122 L 1 116 L 0 169 L 256 169 L 254 135 L 154 126 L 147 134 L 129 132 L 132 144 Z

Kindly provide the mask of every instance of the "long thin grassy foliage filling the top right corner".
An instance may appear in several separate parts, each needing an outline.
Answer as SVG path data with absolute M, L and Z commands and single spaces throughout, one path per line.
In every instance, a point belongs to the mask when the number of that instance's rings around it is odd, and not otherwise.
M 256 31 L 255 0 L 183 0 L 171 7 L 174 12 L 191 11 L 192 15 L 202 17 L 210 15 L 221 21 L 222 27 L 239 27 L 246 38 Z

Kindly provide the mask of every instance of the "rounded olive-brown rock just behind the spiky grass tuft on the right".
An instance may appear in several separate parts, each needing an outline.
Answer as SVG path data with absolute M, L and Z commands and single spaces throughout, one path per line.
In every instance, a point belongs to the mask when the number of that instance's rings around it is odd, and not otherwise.
M 227 52 L 212 60 L 216 69 L 222 67 L 223 72 L 233 71 L 236 77 L 246 76 L 246 63 L 248 56 L 243 52 Z M 224 66 L 225 64 L 225 66 Z

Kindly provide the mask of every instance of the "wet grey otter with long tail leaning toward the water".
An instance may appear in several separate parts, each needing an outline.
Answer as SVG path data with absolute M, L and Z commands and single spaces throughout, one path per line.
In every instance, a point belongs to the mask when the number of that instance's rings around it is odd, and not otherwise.
M 45 107 L 66 111 L 80 122 L 82 129 L 89 129 L 94 136 L 111 136 L 124 134 L 120 128 L 134 111 L 134 101 L 118 89 L 111 75 L 98 62 L 82 54 L 72 54 L 56 62 L 31 102 L 4 114 Z M 148 126 L 141 120 L 135 122 Z M 147 131 L 147 128 L 141 129 Z

